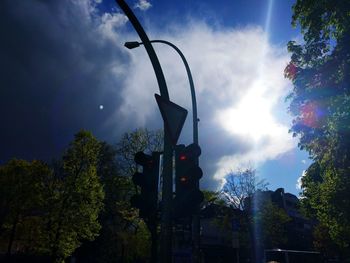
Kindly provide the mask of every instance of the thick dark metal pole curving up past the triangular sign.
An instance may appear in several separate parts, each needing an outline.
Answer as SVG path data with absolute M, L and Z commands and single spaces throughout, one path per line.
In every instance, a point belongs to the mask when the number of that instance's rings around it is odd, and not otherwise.
M 129 18 L 131 24 L 134 26 L 141 41 L 143 42 L 148 56 L 151 60 L 156 78 L 158 81 L 160 95 L 169 100 L 167 85 L 164 74 L 160 66 L 158 57 L 152 47 L 149 38 L 142 28 L 140 22 L 137 20 L 130 7 L 124 0 L 116 0 L 125 15 Z M 162 193 L 162 218 L 161 218 L 161 236 L 160 236 L 160 260 L 162 263 L 172 262 L 172 222 L 171 222 L 171 207 L 173 198 L 173 177 L 172 177 L 172 145 L 170 134 L 164 126 L 164 157 L 163 157 L 163 193 Z

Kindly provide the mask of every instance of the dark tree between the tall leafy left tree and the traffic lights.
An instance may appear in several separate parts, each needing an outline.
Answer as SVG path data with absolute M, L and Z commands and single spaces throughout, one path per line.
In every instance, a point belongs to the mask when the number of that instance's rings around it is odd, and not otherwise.
M 97 174 L 105 191 L 104 209 L 99 215 L 101 231 L 93 242 L 84 242 L 75 256 L 84 262 L 130 262 L 146 257 L 148 232 L 137 211 L 130 207 L 134 193 L 130 176 L 120 175 L 117 148 L 103 142 L 98 158 Z M 138 249 L 135 249 L 137 247 Z

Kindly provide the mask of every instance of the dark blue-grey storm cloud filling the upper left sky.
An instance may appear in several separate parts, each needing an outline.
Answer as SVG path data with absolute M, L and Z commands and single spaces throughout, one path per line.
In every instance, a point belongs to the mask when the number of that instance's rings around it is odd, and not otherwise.
M 88 1 L 0 2 L 0 161 L 51 159 L 81 128 L 111 139 L 127 62 L 100 19 Z

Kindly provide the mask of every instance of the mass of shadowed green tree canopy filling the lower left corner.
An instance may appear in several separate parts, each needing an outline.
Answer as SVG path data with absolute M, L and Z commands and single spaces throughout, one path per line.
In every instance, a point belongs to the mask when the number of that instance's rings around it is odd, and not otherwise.
M 62 262 L 99 233 L 104 191 L 97 176 L 100 142 L 80 131 L 54 168 L 11 160 L 0 167 L 0 250 Z

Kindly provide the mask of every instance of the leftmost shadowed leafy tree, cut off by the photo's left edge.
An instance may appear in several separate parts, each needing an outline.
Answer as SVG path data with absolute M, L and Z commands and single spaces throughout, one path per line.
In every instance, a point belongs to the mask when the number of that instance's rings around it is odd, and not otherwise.
M 13 159 L 0 167 L 0 239 L 8 255 L 14 246 L 22 253 L 38 251 L 45 202 L 42 182 L 50 173 L 36 160 Z

